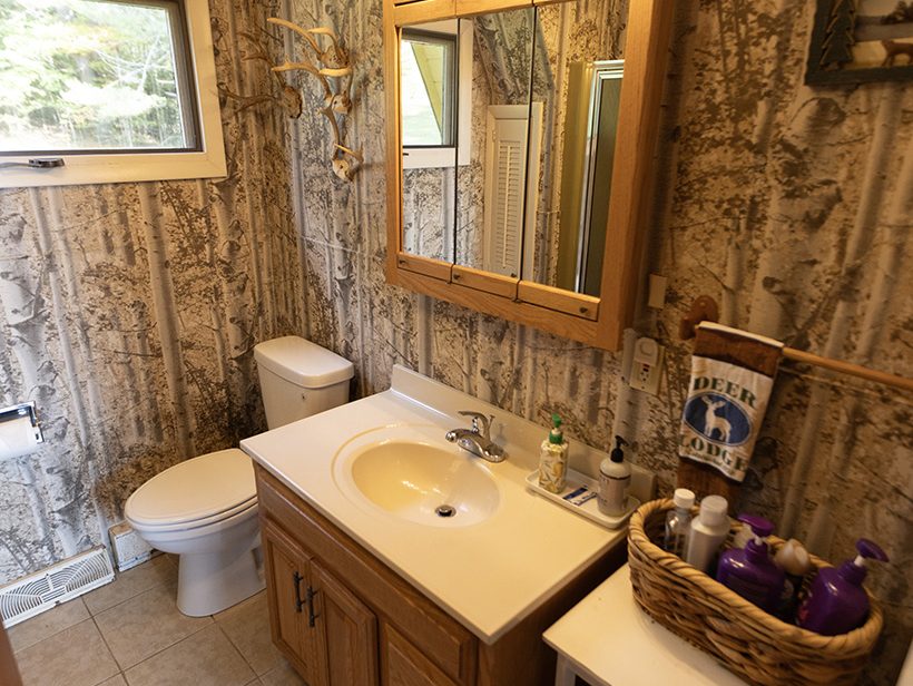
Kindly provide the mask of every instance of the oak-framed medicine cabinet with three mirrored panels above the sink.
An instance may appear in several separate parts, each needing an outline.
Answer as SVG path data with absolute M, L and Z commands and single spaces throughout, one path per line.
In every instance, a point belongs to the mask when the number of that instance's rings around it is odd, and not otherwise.
M 624 4 L 385 0 L 390 283 L 618 349 L 670 22 Z

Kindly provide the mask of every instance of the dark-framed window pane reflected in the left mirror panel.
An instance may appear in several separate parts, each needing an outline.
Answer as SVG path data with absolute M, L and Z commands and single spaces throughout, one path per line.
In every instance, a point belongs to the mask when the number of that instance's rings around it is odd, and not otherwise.
M 403 30 L 400 49 L 403 146 L 454 145 L 457 36 Z

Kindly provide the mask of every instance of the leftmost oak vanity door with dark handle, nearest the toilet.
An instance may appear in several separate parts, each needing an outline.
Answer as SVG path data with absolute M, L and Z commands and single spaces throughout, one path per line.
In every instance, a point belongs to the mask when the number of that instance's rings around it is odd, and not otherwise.
M 268 520 L 262 521 L 266 594 L 273 643 L 311 684 L 321 684 L 314 659 L 314 629 L 308 627 L 310 559 Z

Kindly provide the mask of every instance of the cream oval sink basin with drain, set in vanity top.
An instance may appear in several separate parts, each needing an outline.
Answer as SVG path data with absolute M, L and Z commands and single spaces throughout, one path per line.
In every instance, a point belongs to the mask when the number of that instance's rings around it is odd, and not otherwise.
M 387 513 L 439 527 L 475 525 L 500 503 L 498 484 L 478 458 L 449 445 L 390 438 L 341 451 L 337 482 Z M 350 491 L 348 488 L 343 488 Z M 351 497 L 351 496 L 350 496 Z

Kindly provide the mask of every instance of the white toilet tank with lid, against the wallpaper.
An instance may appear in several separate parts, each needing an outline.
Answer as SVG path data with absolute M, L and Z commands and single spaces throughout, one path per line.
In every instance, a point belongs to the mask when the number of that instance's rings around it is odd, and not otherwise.
M 316 343 L 273 339 L 254 347 L 254 359 L 269 429 L 348 402 L 352 363 Z

